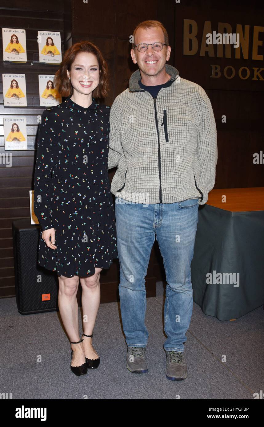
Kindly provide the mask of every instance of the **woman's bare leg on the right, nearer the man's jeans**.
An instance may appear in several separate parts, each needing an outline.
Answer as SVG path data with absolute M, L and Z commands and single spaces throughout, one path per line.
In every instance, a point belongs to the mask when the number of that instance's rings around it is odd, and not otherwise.
M 95 267 L 95 274 L 90 277 L 80 277 L 82 286 L 82 307 L 83 307 L 83 332 L 92 335 L 95 320 L 100 304 L 100 272 L 101 268 Z M 82 336 L 83 349 L 88 359 L 98 359 L 98 354 L 92 346 L 92 338 Z

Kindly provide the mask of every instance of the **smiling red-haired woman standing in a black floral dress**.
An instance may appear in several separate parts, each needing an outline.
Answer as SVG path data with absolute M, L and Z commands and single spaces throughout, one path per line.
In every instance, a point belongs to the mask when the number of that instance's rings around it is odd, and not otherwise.
M 89 41 L 69 48 L 55 86 L 66 99 L 43 112 L 37 140 L 34 207 L 42 228 L 39 265 L 58 274 L 59 312 L 71 342 L 71 370 L 83 375 L 100 363 L 92 346 L 100 272 L 117 258 L 107 167 L 110 107 L 92 98 L 107 94 L 107 64 L 99 49 Z

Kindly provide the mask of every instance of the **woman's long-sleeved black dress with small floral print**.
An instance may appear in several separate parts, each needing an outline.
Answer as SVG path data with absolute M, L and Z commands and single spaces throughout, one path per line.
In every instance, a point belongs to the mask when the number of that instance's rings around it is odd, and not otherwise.
M 34 211 L 56 247 L 39 240 L 38 263 L 59 276 L 91 276 L 118 258 L 108 178 L 110 107 L 71 101 L 47 108 L 37 139 Z

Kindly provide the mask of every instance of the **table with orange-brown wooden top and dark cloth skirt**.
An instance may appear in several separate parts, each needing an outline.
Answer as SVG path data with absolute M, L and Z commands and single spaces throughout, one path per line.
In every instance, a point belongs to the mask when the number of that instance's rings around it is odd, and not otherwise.
M 217 284 L 217 273 L 222 279 L 235 273 L 235 281 L 239 273 L 239 286 Z M 264 187 L 209 193 L 199 206 L 191 278 L 193 300 L 219 320 L 237 319 L 264 304 Z

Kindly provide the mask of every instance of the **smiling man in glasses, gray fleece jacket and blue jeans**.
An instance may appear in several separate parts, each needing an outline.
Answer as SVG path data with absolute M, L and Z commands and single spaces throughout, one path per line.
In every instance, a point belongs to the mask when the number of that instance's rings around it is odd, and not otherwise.
M 156 239 L 166 272 L 166 377 L 183 380 L 184 342 L 192 310 L 190 263 L 198 205 L 214 187 L 217 133 L 211 102 L 196 83 L 166 64 L 171 48 L 159 21 L 133 33 L 139 70 L 110 111 L 108 168 L 116 196 L 120 306 L 128 345 L 127 368 L 148 371 L 145 275 Z

